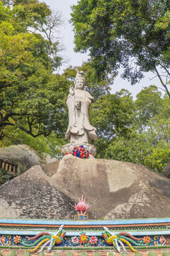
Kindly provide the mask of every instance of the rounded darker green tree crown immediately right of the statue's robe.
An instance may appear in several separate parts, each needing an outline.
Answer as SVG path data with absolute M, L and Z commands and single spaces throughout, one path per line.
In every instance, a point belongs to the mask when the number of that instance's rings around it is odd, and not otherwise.
M 132 97 L 127 90 L 104 95 L 91 106 L 91 123 L 97 128 L 101 138 L 113 139 L 121 134 L 128 137 L 131 132 L 132 110 Z

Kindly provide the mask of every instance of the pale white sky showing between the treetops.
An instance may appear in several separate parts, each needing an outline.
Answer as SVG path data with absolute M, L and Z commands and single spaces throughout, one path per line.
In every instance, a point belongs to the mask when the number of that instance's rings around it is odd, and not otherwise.
M 74 32 L 72 31 L 72 26 L 69 23 L 69 19 L 71 18 L 71 16 L 69 15 L 71 13 L 70 6 L 72 6 L 73 4 L 77 4 L 77 0 L 41 1 L 44 1 L 48 6 L 50 6 L 50 9 L 52 9 L 53 11 L 60 11 L 65 21 L 64 26 L 62 26 L 60 29 L 61 42 L 64 46 L 64 50 L 62 51 L 61 55 L 68 61 L 67 63 L 64 63 L 62 65 L 62 68 L 60 68 L 59 72 L 61 73 L 62 70 L 69 67 L 69 65 L 81 65 L 83 61 L 87 60 L 88 55 L 86 53 L 74 53 Z M 145 78 L 143 78 L 140 83 L 136 85 L 130 85 L 130 82 L 128 82 L 127 80 L 123 80 L 122 78 L 120 78 L 120 75 L 118 75 L 114 80 L 112 92 L 114 93 L 121 90 L 122 88 L 125 88 L 128 89 L 135 97 L 135 95 L 137 95 L 137 93 L 142 90 L 142 87 L 147 87 L 149 85 L 157 85 L 157 87 L 161 87 L 158 78 L 150 80 L 153 77 L 154 75 L 152 73 L 147 73 L 145 74 Z

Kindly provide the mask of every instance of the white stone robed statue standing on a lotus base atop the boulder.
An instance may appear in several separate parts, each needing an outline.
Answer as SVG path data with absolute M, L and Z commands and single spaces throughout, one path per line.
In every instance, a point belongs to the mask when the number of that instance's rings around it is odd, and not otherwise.
M 85 90 L 85 79 L 82 71 L 77 72 L 74 88 L 69 87 L 67 107 L 69 110 L 69 126 L 65 135 L 70 144 L 64 145 L 62 154 L 67 154 L 74 146 L 86 146 L 91 154 L 96 154 L 96 148 L 90 145 L 91 139 L 98 139 L 96 128 L 89 122 L 89 108 L 95 102 L 94 97 Z M 70 146 L 71 145 L 71 146 Z M 93 149 L 93 150 L 92 150 Z

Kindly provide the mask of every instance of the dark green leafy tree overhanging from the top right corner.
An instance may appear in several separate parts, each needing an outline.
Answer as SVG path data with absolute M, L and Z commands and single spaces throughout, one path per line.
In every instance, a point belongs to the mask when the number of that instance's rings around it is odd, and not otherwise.
M 152 71 L 170 98 L 169 9 L 168 0 L 81 0 L 72 6 L 75 50 L 89 50 L 98 76 L 122 66 L 135 84 Z

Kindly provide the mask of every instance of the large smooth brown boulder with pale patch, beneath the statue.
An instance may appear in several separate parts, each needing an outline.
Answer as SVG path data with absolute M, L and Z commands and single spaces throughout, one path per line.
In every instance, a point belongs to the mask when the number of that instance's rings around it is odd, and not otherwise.
M 170 180 L 145 166 L 64 156 L 54 186 L 77 201 L 88 198 L 95 218 L 170 216 Z

